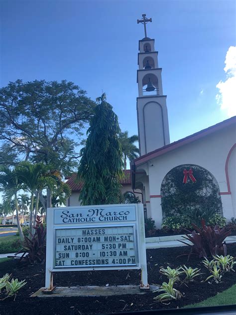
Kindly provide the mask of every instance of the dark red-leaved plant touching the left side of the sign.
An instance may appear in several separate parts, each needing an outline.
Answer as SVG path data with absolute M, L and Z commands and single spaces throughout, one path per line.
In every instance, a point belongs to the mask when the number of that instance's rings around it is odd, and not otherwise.
M 35 223 L 33 227 L 35 233 L 29 232 L 31 239 L 27 236 L 24 237 L 21 242 L 21 250 L 15 254 L 24 253 L 20 261 L 23 259 L 29 264 L 44 263 L 46 258 L 46 228 L 43 226 L 39 215 L 37 215 Z

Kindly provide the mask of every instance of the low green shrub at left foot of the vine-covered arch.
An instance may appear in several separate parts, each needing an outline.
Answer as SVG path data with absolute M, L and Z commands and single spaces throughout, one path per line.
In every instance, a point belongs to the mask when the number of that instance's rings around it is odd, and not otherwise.
M 192 227 L 190 219 L 186 215 L 173 215 L 162 220 L 162 228 L 166 230 L 189 229 Z

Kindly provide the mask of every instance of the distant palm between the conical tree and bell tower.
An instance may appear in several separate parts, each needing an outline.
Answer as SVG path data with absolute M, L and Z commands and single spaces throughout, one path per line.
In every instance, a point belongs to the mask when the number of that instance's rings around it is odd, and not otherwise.
M 122 154 L 123 154 L 124 169 L 126 169 L 127 158 L 131 162 L 134 158 L 139 157 L 139 150 L 135 145 L 135 142 L 138 141 L 138 136 L 133 135 L 131 137 L 128 137 L 128 132 L 124 131 L 119 134 L 118 139 L 119 139 Z

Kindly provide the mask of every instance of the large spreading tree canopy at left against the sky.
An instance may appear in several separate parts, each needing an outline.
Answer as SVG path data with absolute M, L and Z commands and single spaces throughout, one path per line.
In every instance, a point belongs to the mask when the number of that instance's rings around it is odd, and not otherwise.
M 10 82 L 0 89 L 0 164 L 53 163 L 67 175 L 78 166 L 75 148 L 95 106 L 66 80 Z

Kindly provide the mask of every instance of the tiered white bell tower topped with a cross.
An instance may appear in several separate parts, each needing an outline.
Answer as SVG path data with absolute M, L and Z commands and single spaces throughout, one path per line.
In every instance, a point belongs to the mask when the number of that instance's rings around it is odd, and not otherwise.
M 137 20 L 144 24 L 145 37 L 138 45 L 138 97 L 137 121 L 140 155 L 170 143 L 166 95 L 162 91 L 161 70 L 158 67 L 158 52 L 154 48 L 154 39 L 147 37 L 146 23 L 151 18 Z

